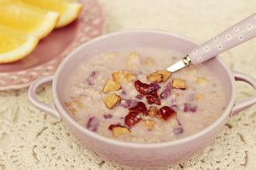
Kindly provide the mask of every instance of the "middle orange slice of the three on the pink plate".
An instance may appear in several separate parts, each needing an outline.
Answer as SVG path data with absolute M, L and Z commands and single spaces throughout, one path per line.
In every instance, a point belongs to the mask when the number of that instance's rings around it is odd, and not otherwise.
M 54 29 L 58 18 L 57 12 L 34 8 L 18 1 L 0 1 L 0 23 L 3 26 L 40 39 Z

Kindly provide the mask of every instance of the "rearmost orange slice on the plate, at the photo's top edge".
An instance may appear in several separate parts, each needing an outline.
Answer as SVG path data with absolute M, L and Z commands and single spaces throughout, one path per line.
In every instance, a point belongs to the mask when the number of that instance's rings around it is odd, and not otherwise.
M 67 0 L 22 0 L 28 5 L 33 5 L 37 8 L 43 8 L 47 11 L 58 12 L 61 17 L 57 22 L 57 28 L 67 26 L 78 18 L 81 12 L 82 5 L 78 2 L 70 2 Z

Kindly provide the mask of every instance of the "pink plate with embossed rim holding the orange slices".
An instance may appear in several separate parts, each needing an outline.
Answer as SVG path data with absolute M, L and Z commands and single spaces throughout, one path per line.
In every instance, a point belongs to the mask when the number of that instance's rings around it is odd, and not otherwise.
M 0 65 L 0 90 L 28 87 L 40 76 L 53 74 L 75 47 L 103 32 L 102 10 L 95 0 L 80 0 L 84 8 L 79 18 L 42 39 L 33 53 L 15 63 Z

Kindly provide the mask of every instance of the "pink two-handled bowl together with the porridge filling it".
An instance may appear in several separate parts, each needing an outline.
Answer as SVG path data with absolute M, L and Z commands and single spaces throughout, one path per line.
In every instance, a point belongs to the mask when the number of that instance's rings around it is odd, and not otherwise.
M 218 58 L 175 73 L 165 70 L 198 43 L 158 31 L 116 32 L 67 56 L 57 73 L 29 87 L 32 103 L 62 121 L 88 151 L 120 165 L 159 167 L 185 162 L 209 145 L 223 125 L 256 103 L 235 99 L 235 80 Z M 53 83 L 54 105 L 36 98 Z

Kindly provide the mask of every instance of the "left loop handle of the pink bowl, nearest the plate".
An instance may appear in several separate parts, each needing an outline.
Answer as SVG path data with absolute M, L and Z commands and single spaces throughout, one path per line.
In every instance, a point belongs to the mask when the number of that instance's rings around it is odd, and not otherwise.
M 40 100 L 37 99 L 36 97 L 36 90 L 38 87 L 42 86 L 43 84 L 50 83 L 54 80 L 54 75 L 48 75 L 48 76 L 43 76 L 34 81 L 30 87 L 29 87 L 29 100 L 31 103 L 39 108 L 40 110 L 43 110 L 47 114 L 49 114 L 51 117 L 54 117 L 57 119 L 57 121 L 61 121 L 61 116 L 57 113 L 56 108 L 54 105 L 50 104 L 44 104 Z

